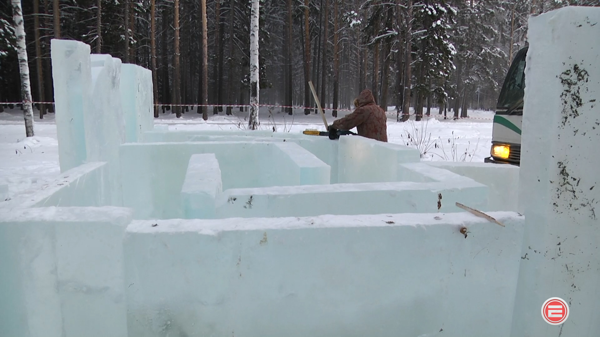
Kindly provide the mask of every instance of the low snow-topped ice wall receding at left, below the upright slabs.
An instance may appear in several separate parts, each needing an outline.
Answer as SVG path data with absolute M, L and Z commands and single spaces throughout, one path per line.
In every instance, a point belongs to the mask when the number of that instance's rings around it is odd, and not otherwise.
M 7 209 L 47 206 L 106 206 L 110 201 L 108 164 L 83 164 L 61 173 L 55 180 L 35 185 L 0 206 Z

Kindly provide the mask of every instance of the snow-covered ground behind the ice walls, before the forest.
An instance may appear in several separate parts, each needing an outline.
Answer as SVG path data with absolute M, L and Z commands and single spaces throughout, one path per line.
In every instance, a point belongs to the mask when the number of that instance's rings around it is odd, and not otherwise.
M 212 115 L 208 121 L 196 111 L 184 113 L 182 118 L 168 112 L 160 113 L 155 125 L 169 125 L 169 130 L 239 130 L 247 125 L 247 113 L 233 110 L 234 116 Z M 339 112 L 338 118 L 348 112 Z M 58 141 L 54 114 L 39 119 L 34 110 L 35 136 L 25 137 L 23 113 L 19 109 L 0 113 L 0 185 L 8 184 L 10 195 L 23 191 L 35 183 L 43 184 L 60 172 L 58 164 Z M 328 124 L 334 121 L 331 110 L 326 112 Z M 451 116 L 449 113 L 448 116 Z M 388 141 L 418 148 L 423 160 L 482 162 L 488 157 L 491 146 L 492 120 L 494 113 L 470 111 L 468 119 L 452 121 L 443 119 L 432 110 L 431 118 L 421 122 L 396 122 L 394 107 L 388 111 Z M 318 114 L 305 116 L 300 109 L 293 116 L 281 113 L 280 109 L 269 112 L 260 109 L 260 128 L 276 132 L 301 133 L 306 129 L 324 130 Z M 356 130 L 353 130 L 356 132 Z M 318 137 L 318 136 L 315 136 Z M 240 168 L 242 169 L 242 168 Z

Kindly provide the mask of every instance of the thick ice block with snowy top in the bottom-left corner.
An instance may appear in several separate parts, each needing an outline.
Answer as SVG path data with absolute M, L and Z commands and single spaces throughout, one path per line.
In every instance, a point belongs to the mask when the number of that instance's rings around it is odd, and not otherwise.
M 0 335 L 127 336 L 122 240 L 130 221 L 119 207 L 0 213 Z

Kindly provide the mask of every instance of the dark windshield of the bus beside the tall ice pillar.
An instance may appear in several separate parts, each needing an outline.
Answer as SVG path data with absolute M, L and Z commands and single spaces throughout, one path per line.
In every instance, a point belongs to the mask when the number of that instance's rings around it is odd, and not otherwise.
M 504 80 L 500 97 L 498 98 L 499 108 L 510 109 L 515 105 L 523 104 L 523 89 L 525 88 L 525 56 L 527 49 L 521 49 L 508 71 L 508 76 Z

